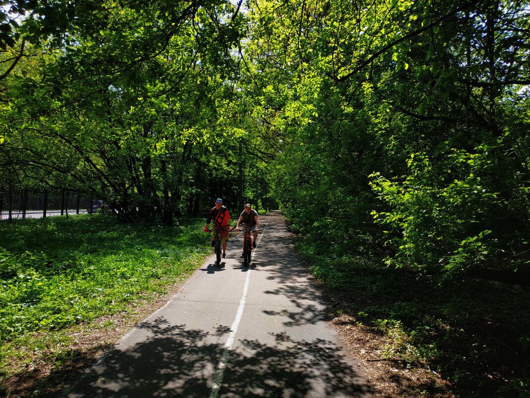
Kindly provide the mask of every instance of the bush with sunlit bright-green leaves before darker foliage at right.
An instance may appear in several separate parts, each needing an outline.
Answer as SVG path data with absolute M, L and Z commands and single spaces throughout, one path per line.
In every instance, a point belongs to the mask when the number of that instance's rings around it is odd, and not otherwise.
M 510 213 L 509 203 L 494 191 L 489 177 L 494 148 L 482 145 L 475 153 L 451 149 L 436 164 L 413 153 L 410 172 L 401 180 L 371 176 L 370 185 L 388 205 L 388 211 L 372 212 L 387 227 L 387 244 L 395 250 L 387 265 L 447 278 L 499 261 L 514 242 L 507 241 L 499 221 Z M 511 266 L 519 262 L 513 259 Z

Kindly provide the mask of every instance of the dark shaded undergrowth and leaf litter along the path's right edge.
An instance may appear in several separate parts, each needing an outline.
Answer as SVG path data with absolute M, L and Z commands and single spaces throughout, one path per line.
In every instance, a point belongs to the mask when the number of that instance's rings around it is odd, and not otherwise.
M 440 285 L 384 266 L 383 255 L 340 254 L 341 243 L 303 236 L 295 244 L 315 278 L 352 292 L 340 314 L 386 335 L 380 358 L 427 366 L 459 397 L 530 396 L 529 289 L 482 279 Z

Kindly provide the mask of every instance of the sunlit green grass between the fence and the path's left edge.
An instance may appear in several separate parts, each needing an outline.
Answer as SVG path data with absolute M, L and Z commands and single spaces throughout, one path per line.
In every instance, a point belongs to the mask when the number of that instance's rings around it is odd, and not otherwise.
M 38 344 L 34 335 L 65 340 L 65 328 L 134 307 L 185 278 L 209 250 L 203 224 L 119 224 L 100 214 L 0 223 L 0 364 L 13 360 L 14 348 Z

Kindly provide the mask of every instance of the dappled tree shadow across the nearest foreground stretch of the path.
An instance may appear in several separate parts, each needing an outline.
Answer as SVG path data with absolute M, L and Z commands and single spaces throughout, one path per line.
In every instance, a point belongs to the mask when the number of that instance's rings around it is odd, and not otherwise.
M 126 349 L 119 346 L 58 397 L 208 397 L 225 350 L 229 327 L 212 333 L 169 325 L 163 318 L 138 326 L 151 334 Z M 231 351 L 218 396 L 361 397 L 368 396 L 355 369 L 329 341 L 291 341 L 276 335 L 277 345 L 241 341 Z

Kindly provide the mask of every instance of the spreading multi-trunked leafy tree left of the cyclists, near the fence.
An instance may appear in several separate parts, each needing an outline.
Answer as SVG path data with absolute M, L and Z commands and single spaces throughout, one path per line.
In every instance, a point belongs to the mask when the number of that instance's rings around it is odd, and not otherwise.
M 83 10 L 50 42 L 39 76 L 10 76 L 17 84 L 8 94 L 16 131 L 75 154 L 76 167 L 46 157 L 37 141 L 29 149 L 8 136 L 9 148 L 26 164 L 38 160 L 42 170 L 105 194 L 123 220 L 164 209 L 171 222 L 188 190 L 191 145 L 215 145 L 229 131 L 223 115 L 232 85 L 225 79 L 238 8 L 129 2 Z

